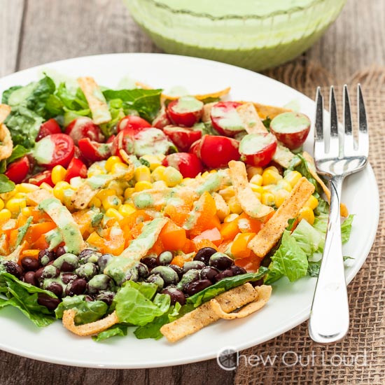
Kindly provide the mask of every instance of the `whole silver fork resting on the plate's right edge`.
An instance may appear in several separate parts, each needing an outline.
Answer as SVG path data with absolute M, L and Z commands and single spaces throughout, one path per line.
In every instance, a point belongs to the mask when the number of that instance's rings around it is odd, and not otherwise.
M 369 135 L 363 94 L 357 87 L 358 144 L 353 139 L 349 93 L 344 85 L 344 128 L 338 125 L 334 88 L 330 88 L 330 126 L 323 125 L 323 97 L 316 93 L 314 160 L 320 174 L 330 181 L 330 212 L 325 248 L 309 319 L 311 339 L 321 344 L 337 342 L 349 330 L 349 304 L 342 258 L 340 198 L 345 176 L 367 164 Z M 342 131 L 343 130 L 343 131 Z

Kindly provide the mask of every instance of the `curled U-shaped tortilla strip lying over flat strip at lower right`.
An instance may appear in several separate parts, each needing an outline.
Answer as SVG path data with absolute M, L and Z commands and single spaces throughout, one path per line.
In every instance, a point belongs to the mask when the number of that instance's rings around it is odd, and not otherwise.
M 254 290 L 258 293 L 258 297 L 253 300 L 253 302 L 246 304 L 246 306 L 242 307 L 236 313 L 226 313 L 223 311 L 221 304 L 219 304 L 215 298 L 210 301 L 211 309 L 213 309 L 216 315 L 222 319 L 235 319 L 249 316 L 251 313 L 262 309 L 262 307 L 267 304 L 270 295 L 272 295 L 272 286 L 257 286 L 254 288 Z

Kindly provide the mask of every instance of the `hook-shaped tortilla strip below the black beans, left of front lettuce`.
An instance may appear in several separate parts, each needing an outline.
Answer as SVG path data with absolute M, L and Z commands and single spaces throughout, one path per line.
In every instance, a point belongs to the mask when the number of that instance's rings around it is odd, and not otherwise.
M 76 310 L 69 309 L 64 310 L 63 313 L 63 326 L 66 330 L 73 332 L 76 335 L 95 335 L 103 330 L 111 328 L 111 326 L 115 325 L 119 322 L 118 316 L 116 315 L 116 311 L 113 311 L 109 316 L 106 316 L 98 321 L 94 321 L 91 323 L 85 323 L 85 325 L 75 325 L 75 316 Z

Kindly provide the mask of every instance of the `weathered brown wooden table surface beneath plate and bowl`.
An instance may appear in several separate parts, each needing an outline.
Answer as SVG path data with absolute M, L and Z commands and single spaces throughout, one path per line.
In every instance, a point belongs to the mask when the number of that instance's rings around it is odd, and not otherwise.
M 161 52 L 121 0 L 0 0 L 0 76 L 69 57 Z M 348 0 L 303 66 L 318 62 L 339 83 L 365 66 L 385 66 L 385 1 Z M 6 332 L 2 330 L 1 332 Z M 70 352 L 69 352 L 70 353 Z M 150 352 L 149 352 L 150 353 Z M 215 360 L 151 370 L 100 370 L 42 363 L 0 351 L 0 384 L 232 384 Z

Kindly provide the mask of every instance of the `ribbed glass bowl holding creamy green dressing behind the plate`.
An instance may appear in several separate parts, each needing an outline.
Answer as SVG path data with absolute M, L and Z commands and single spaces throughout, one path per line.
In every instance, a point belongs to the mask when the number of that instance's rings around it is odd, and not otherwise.
M 175 0 L 123 1 L 134 20 L 165 52 L 204 57 L 254 71 L 277 66 L 307 50 L 346 3 L 346 0 L 308 0 L 302 1 L 304 6 L 280 8 L 273 13 L 258 10 L 253 14 L 226 15 L 221 10 L 214 15 L 185 10 Z M 242 1 L 247 0 L 235 3 Z M 274 9 L 274 0 L 268 1 Z

